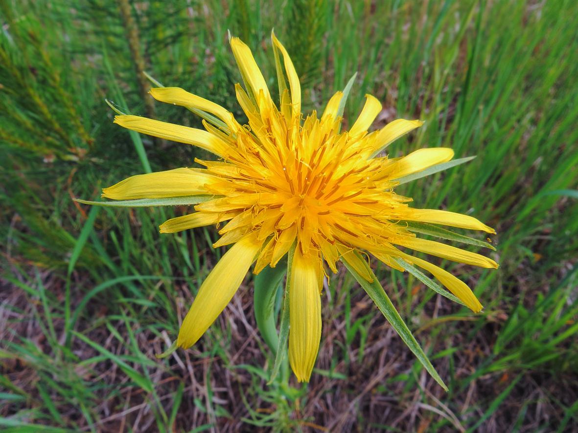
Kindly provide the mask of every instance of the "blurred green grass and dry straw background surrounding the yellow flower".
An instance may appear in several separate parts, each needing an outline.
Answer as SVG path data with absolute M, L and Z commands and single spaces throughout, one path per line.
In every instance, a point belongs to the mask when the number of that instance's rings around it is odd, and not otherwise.
M 578 2 L 2 0 L 0 25 L 0 428 L 578 429 Z M 323 298 L 308 386 L 267 385 L 250 276 L 194 348 L 155 359 L 224 252 L 214 228 L 161 235 L 188 209 L 73 201 L 206 156 L 113 125 L 105 98 L 201 125 L 154 102 L 146 72 L 243 120 L 227 31 L 276 89 L 273 27 L 301 76 L 303 111 L 323 109 L 358 72 L 345 124 L 371 93 L 383 102 L 375 128 L 426 121 L 392 156 L 477 155 L 399 192 L 497 229 L 498 271 L 443 263 L 483 313 L 372 263 L 447 393 L 344 272 Z

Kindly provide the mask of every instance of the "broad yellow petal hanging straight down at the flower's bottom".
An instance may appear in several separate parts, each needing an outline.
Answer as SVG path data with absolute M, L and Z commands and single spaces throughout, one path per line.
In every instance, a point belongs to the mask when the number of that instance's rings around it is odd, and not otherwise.
M 299 382 L 309 382 L 321 340 L 318 257 L 295 250 L 289 286 L 289 363 Z

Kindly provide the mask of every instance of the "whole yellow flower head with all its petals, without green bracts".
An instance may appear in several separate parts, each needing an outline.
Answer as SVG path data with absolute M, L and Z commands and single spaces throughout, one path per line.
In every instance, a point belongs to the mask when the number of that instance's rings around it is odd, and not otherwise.
M 380 154 L 393 140 L 421 126 L 421 121 L 399 119 L 368 132 L 381 111 L 381 103 L 366 95 L 353 126 L 341 132 L 343 92 L 336 92 L 321 116 L 313 111 L 303 120 L 299 78 L 275 35 L 272 41 L 278 65 L 279 106 L 273 102 L 249 47 L 232 38 L 232 51 L 246 85 L 246 90 L 239 84 L 235 86 L 236 96 L 249 124 L 239 124 L 228 110 L 181 88 L 153 88 L 155 99 L 197 110 L 210 120 L 203 122 L 206 130 L 134 115 L 119 115 L 114 122 L 201 147 L 216 155 L 217 160 L 196 159 L 205 167 L 202 169 L 179 168 L 129 177 L 103 189 L 102 196 L 115 200 L 210 196 L 194 207 L 196 212 L 163 223 L 161 233 L 228 221 L 220 229 L 222 237 L 214 247 L 234 245 L 203 282 L 184 318 L 177 339 L 182 348 L 201 338 L 253 263 L 257 274 L 265 266 L 275 267 L 284 255 L 294 251 L 287 282 L 289 359 L 298 380 L 308 381 L 321 338 L 324 262 L 336 273 L 336 262 L 344 260 L 372 281 L 357 252 L 368 252 L 403 271 L 395 260 L 401 258 L 431 273 L 465 305 L 479 312 L 481 304 L 465 283 L 399 248 L 497 268 L 497 263 L 485 256 L 416 237 L 407 222 L 495 232 L 472 216 L 412 208 L 408 206 L 411 199 L 394 192 L 399 178 L 454 156 L 449 148 L 421 149 L 403 158 Z

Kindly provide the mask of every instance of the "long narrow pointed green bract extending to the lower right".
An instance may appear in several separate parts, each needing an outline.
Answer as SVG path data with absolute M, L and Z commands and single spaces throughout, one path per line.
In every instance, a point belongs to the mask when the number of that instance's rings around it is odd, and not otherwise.
M 365 260 L 362 260 L 359 253 L 355 252 L 355 254 L 360 257 L 362 263 L 365 263 Z M 345 260 L 341 261 L 347 270 L 349 270 L 351 275 L 353 275 L 353 277 L 357 280 L 357 282 L 360 283 L 360 286 L 364 288 L 369 297 L 372 298 L 377 308 L 379 308 L 379 311 L 383 313 L 387 321 L 390 322 L 391 326 L 399 334 L 399 337 L 401 337 L 403 342 L 413 352 L 413 354 L 416 355 L 421 365 L 423 365 L 427 372 L 432 376 L 432 378 L 435 379 L 435 381 L 438 382 L 439 385 L 447 391 L 446 384 L 443 383 L 442 378 L 440 378 L 438 372 L 435 371 L 435 368 L 433 368 L 433 365 L 429 362 L 428 357 L 421 349 L 420 344 L 413 336 L 412 331 L 410 331 L 405 322 L 403 322 L 403 319 L 399 315 L 397 309 L 395 309 L 394 304 L 391 303 L 390 298 L 387 296 L 385 290 L 383 290 L 383 287 L 377 280 L 377 277 L 371 268 L 365 263 L 368 272 L 373 277 L 373 281 L 368 282 L 365 278 L 358 274 L 357 271 L 355 271 L 355 269 L 351 267 Z

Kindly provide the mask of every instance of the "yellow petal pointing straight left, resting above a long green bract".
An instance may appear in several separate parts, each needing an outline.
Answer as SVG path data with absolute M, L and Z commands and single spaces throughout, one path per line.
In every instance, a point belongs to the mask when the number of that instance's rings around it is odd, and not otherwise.
M 162 197 L 210 194 L 205 185 L 217 178 L 199 169 L 180 168 L 137 174 L 102 189 L 102 197 L 113 200 L 160 199 Z

